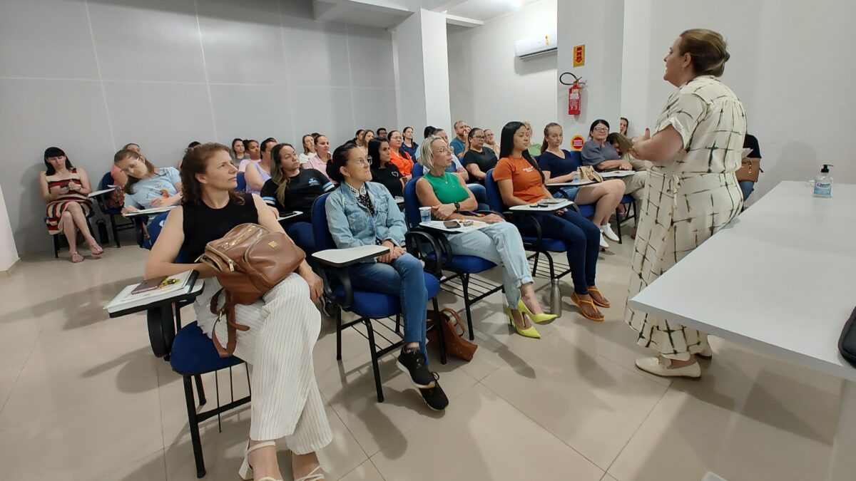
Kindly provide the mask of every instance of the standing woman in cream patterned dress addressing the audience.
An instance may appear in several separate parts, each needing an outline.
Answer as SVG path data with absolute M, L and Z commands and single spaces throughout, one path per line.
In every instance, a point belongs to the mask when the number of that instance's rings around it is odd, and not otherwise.
M 633 246 L 632 298 L 681 258 L 725 227 L 742 206 L 734 172 L 746 135 L 740 99 L 716 77 L 728 62 L 725 40 L 706 29 L 687 30 L 663 59 L 663 80 L 677 90 L 654 127 L 633 140 L 633 157 L 654 167 L 645 187 Z M 692 148 L 690 146 L 692 145 Z M 658 356 L 637 359 L 643 371 L 664 377 L 699 377 L 695 356 L 712 355 L 707 335 L 627 306 L 627 323 L 640 346 Z

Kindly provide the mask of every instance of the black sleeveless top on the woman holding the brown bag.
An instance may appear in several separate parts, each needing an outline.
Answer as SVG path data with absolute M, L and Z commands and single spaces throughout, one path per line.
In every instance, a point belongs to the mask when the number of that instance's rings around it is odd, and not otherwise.
M 215 241 L 235 226 L 242 223 L 259 223 L 259 211 L 253 203 L 253 195 L 244 193 L 244 204 L 230 199 L 222 209 L 211 209 L 205 202 L 185 204 L 184 244 L 181 246 L 182 258 L 193 262 L 205 252 L 205 244 Z

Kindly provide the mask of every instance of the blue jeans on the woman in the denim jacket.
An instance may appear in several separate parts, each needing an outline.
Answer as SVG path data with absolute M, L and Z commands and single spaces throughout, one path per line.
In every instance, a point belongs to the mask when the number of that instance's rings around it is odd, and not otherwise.
M 425 356 L 425 365 L 428 365 L 428 352 L 425 350 L 428 290 L 419 259 L 406 253 L 389 264 L 356 264 L 348 269 L 348 275 L 354 286 L 398 296 L 401 317 L 404 318 L 404 343 L 419 342 L 419 350 Z

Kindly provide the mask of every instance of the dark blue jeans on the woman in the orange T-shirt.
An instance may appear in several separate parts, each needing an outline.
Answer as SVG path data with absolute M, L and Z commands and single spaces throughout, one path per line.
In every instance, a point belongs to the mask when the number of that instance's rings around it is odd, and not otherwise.
M 541 235 L 548 239 L 562 241 L 568 254 L 568 265 L 574 279 L 574 292 L 588 294 L 593 286 L 597 270 L 597 256 L 600 253 L 600 229 L 577 211 L 568 210 L 562 216 L 553 213 L 532 214 L 541 226 Z M 535 237 L 534 226 L 526 219 L 514 221 L 520 234 Z

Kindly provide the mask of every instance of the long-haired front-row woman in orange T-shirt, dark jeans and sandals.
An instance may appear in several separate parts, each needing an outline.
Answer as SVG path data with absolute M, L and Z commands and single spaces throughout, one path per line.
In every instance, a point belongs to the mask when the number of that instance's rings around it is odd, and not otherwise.
M 544 181 L 544 173 L 529 155 L 529 130 L 522 122 L 508 122 L 502 128 L 500 159 L 493 169 L 493 178 L 507 206 L 527 205 L 542 199 L 552 199 Z M 597 229 L 579 212 L 562 209 L 555 212 L 536 212 L 532 217 L 540 224 L 541 232 L 562 241 L 568 254 L 568 265 L 574 279 L 571 301 L 580 308 L 583 317 L 603 321 L 597 306 L 609 307 L 595 286 L 597 255 L 600 252 L 600 229 Z M 520 234 L 537 236 L 534 226 L 524 221 L 512 222 Z

